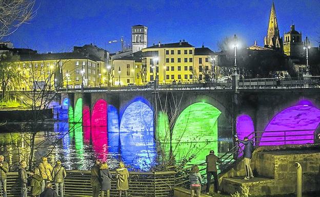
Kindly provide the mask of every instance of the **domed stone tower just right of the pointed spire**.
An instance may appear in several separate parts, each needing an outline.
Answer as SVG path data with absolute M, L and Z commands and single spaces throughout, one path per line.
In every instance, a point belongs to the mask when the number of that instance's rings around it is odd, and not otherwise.
M 294 25 L 291 25 L 290 31 L 284 35 L 284 52 L 288 56 L 302 57 L 304 54 L 302 33 L 294 28 Z

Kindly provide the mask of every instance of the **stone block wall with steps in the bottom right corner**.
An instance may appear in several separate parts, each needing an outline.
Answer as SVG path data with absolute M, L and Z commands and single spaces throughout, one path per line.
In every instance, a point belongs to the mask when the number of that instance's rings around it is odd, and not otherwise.
M 254 178 L 244 180 L 244 162 L 219 177 L 223 192 L 241 192 L 249 186 L 251 195 L 276 195 L 296 192 L 295 162 L 302 165 L 303 192 L 320 190 L 320 147 L 305 150 L 255 151 L 251 160 Z M 211 189 L 211 188 L 210 188 Z

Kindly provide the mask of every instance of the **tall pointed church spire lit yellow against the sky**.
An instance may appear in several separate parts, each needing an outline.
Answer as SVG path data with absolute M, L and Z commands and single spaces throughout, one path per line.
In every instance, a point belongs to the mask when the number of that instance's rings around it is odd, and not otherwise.
M 282 38 L 279 34 L 278 22 L 275 15 L 274 3 L 272 2 L 271 13 L 269 18 L 269 27 L 267 36 L 265 37 L 265 47 L 282 50 Z

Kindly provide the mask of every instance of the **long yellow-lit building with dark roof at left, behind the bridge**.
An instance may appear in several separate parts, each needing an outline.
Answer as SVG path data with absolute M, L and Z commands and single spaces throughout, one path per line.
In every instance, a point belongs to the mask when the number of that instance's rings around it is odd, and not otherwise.
M 107 81 L 105 63 L 95 56 L 83 53 L 47 53 L 21 55 L 17 63 L 21 73 L 19 89 L 30 90 L 39 86 L 80 88 L 104 86 Z M 25 83 L 23 82 L 25 81 Z

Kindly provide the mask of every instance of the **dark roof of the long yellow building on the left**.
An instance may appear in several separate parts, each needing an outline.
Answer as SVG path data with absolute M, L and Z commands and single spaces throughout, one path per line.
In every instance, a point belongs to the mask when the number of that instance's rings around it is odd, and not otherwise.
M 32 55 L 20 55 L 21 61 L 61 60 L 61 59 L 87 59 L 83 53 L 42 53 Z M 98 57 L 89 55 L 88 59 L 100 61 Z

